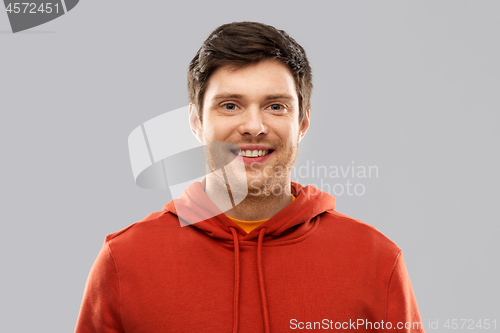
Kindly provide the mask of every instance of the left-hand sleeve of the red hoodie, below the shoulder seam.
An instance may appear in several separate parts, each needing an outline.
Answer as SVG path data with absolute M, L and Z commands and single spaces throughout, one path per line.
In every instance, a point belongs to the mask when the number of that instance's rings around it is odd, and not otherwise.
M 90 269 L 75 333 L 125 332 L 120 318 L 120 281 L 106 241 Z

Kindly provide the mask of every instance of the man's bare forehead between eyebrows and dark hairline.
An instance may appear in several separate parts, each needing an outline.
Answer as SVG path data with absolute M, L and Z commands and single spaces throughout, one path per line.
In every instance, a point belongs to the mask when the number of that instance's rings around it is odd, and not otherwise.
M 293 101 L 298 100 L 292 72 L 278 60 L 262 60 L 240 68 L 230 65 L 218 68 L 209 78 L 204 99 L 210 102 L 225 95 L 243 98 L 288 95 Z

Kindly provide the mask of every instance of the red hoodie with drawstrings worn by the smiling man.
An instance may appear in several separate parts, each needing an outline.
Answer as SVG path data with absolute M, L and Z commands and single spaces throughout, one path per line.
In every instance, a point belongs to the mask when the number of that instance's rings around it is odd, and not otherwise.
M 401 250 L 333 196 L 292 182 L 248 234 L 223 213 L 182 227 L 176 207 L 217 211 L 204 186 L 106 237 L 75 332 L 424 331 Z

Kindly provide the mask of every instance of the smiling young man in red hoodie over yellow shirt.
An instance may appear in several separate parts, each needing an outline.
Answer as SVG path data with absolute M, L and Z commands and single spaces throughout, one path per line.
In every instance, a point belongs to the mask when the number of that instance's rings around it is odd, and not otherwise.
M 106 237 L 76 332 L 423 332 L 401 250 L 291 182 L 310 121 L 303 48 L 268 25 L 223 25 L 191 61 L 188 90 L 213 172 Z

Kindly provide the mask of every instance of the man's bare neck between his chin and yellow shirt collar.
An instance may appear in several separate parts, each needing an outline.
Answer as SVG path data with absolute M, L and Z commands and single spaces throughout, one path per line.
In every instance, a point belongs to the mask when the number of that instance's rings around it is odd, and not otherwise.
M 245 199 L 232 206 L 233 208 L 226 211 L 221 210 L 227 216 L 238 220 L 257 221 L 269 219 L 293 201 L 290 181 L 288 181 L 288 186 L 281 188 L 282 190 L 275 191 L 279 193 L 278 195 L 273 193 L 266 195 L 264 191 L 259 191 L 260 195 L 249 192 Z M 212 177 L 207 177 L 205 193 L 217 207 L 227 207 L 228 188 L 226 184 L 216 181 Z

